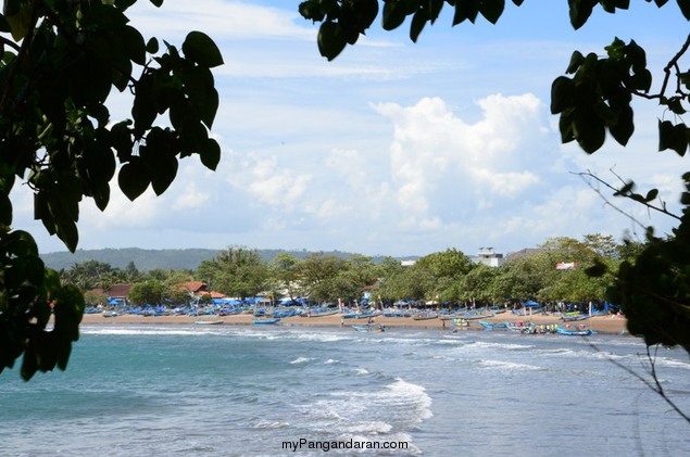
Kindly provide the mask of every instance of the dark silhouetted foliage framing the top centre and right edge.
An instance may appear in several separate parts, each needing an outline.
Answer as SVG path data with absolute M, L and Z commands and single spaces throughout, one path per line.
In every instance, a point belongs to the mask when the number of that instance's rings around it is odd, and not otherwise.
M 523 0 L 512 2 L 515 7 L 523 4 Z M 668 0 L 653 2 L 657 8 L 669 8 Z M 675 3 L 679 14 L 689 21 L 690 0 L 676 0 Z M 435 24 L 446 7 L 453 9 L 452 26 L 474 24 L 480 17 L 497 24 L 506 1 L 387 0 L 379 10 L 377 0 L 305 0 L 300 3 L 299 11 L 304 18 L 321 23 L 318 50 L 330 61 L 348 45 L 355 45 L 379 12 L 385 30 L 401 27 L 410 18 L 410 39 L 416 42 L 425 26 Z M 579 29 L 599 8 L 613 14 L 623 13 L 629 7 L 629 0 L 568 0 L 570 25 Z M 614 37 L 604 47 L 603 56 L 574 51 L 570 61 L 564 65 L 565 75 L 556 76 L 551 86 L 551 113 L 559 116 L 562 142 L 575 141 L 588 154 L 600 150 L 609 138 L 625 147 L 635 132 L 631 102 L 638 98 L 656 101 L 662 111 L 673 115 L 673 120 L 658 120 L 660 151 L 673 150 L 685 155 L 690 128 L 680 116 L 686 113 L 690 101 L 690 72 L 683 69 L 679 61 L 689 48 L 690 35 L 668 56 L 667 65 L 661 68 L 664 76 L 656 92 L 652 91 L 653 77 L 647 65 L 645 50 L 635 40 L 624 42 Z M 687 272 L 690 262 L 690 173 L 683 174 L 682 180 L 688 189 L 680 196 L 685 207 L 682 215 L 670 214 L 664 202 L 657 201 L 657 189 L 639 193 L 633 181 L 619 187 L 609 186 L 614 195 L 631 199 L 679 221 L 673 236 L 667 238 L 655 237 L 653 228 L 648 228 L 647 246 L 617 267 L 610 296 L 623 306 L 629 319 L 629 330 L 642 335 L 647 344 L 680 344 L 690 352 L 690 294 L 687 288 L 690 283 Z M 588 275 L 590 278 L 614 275 L 611 268 L 611 265 L 599 262 L 590 266 Z M 527 271 L 515 274 L 519 276 Z M 528 284 L 525 282 L 525 287 Z M 532 288 L 538 288 L 538 283 Z

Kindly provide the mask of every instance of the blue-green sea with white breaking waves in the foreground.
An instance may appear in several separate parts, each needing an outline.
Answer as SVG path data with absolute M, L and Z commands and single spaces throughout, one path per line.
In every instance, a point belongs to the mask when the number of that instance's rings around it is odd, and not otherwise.
M 0 455 L 682 455 L 690 360 L 652 356 L 599 334 L 85 325 L 65 372 L 0 375 Z

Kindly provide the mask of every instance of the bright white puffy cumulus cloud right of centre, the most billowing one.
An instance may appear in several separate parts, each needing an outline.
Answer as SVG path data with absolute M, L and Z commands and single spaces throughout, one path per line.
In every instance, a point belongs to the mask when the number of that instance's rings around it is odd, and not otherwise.
M 535 96 L 494 94 L 477 105 L 482 115 L 474 124 L 439 98 L 376 106 L 394 125 L 391 175 L 398 202 L 412 218 L 437 224 L 455 204 L 468 214 L 507 202 L 535 189 L 538 175 L 552 166 L 541 154 L 555 137 Z

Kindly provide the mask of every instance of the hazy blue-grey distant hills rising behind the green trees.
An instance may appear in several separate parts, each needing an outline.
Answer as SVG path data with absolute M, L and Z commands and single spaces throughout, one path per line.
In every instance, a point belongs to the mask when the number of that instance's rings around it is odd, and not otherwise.
M 102 250 L 77 250 L 74 254 L 64 252 L 52 252 L 41 254 L 40 257 L 47 267 L 61 270 L 70 269 L 75 264 L 81 264 L 88 261 L 97 261 L 109 264 L 113 268 L 127 268 L 130 262 L 134 262 L 139 271 L 148 271 L 152 269 L 174 269 L 174 270 L 196 270 L 203 261 L 211 261 L 224 250 L 208 249 L 185 249 L 185 250 L 145 250 L 139 247 L 125 249 L 102 249 Z M 286 250 L 256 250 L 264 262 L 271 262 L 280 253 L 291 254 L 293 257 L 301 259 L 315 252 L 286 251 Z M 335 255 L 341 258 L 351 258 L 356 255 L 340 251 L 324 252 L 326 255 Z M 410 257 L 416 258 L 416 257 Z M 377 262 L 380 257 L 375 257 Z

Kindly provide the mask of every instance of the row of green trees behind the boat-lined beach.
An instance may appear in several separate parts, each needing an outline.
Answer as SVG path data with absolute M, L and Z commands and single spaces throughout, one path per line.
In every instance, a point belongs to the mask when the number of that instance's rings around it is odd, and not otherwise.
M 111 285 L 131 284 L 134 304 L 183 304 L 190 300 L 184 285 L 201 281 L 209 290 L 246 299 L 263 295 L 278 301 L 306 296 L 312 302 L 359 302 L 363 292 L 376 303 L 400 300 L 437 304 L 582 303 L 610 299 L 612 271 L 635 258 L 642 243 L 616 243 L 611 236 L 588 234 L 581 240 L 548 239 L 526 255 L 510 257 L 501 267 L 475 263 L 456 249 L 421 257 L 403 266 L 393 257 L 376 261 L 364 255 L 350 258 L 311 253 L 297 258 L 283 252 L 271 261 L 259 251 L 230 246 L 196 270 L 153 269 L 139 271 L 131 262 L 126 268 L 88 261 L 60 271 L 61 280 L 76 284 L 88 304 L 104 303 Z M 560 263 L 576 265 L 557 269 Z M 604 266 L 602 275 L 592 269 Z M 95 292 L 98 291 L 98 292 Z

